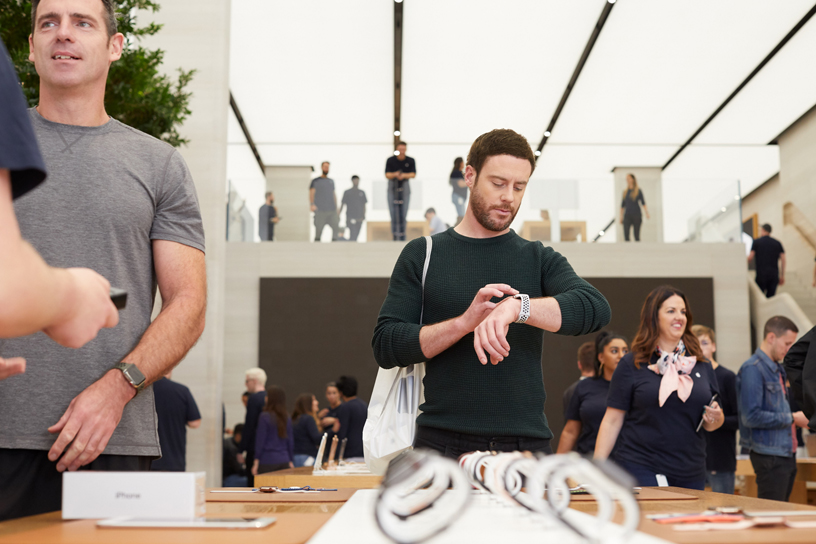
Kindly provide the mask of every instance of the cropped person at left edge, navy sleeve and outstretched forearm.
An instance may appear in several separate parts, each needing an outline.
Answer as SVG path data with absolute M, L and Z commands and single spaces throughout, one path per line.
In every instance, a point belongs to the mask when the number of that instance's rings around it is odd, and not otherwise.
M 87 268 L 52 268 L 20 236 L 12 200 L 45 176 L 25 98 L 0 40 L 0 338 L 42 330 L 78 348 L 99 329 L 116 326 L 119 314 L 105 278 Z M 25 372 L 25 364 L 22 357 L 0 357 L 0 380 Z

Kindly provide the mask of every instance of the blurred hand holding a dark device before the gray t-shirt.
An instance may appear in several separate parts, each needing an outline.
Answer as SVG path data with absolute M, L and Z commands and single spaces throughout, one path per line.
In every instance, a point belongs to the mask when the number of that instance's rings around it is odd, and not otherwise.
M 69 268 L 69 298 L 56 325 L 43 332 L 69 348 L 80 348 L 96 338 L 99 329 L 119 323 L 119 312 L 110 299 L 108 280 L 87 268 Z

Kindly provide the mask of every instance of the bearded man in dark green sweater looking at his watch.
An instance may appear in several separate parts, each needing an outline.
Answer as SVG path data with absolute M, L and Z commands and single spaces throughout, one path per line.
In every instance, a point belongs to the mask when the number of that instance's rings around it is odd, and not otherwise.
M 606 299 L 562 255 L 510 230 L 534 168 L 512 130 L 473 143 L 465 218 L 433 237 L 423 325 L 425 239 L 409 242 L 394 267 L 372 347 L 383 368 L 427 362 L 417 448 L 550 453 L 542 330 L 581 335 L 609 322 Z

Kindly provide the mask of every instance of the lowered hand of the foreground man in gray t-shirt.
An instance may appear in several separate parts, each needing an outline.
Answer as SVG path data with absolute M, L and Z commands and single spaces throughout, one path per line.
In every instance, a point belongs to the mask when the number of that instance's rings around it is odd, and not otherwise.
M 113 369 L 74 397 L 56 425 L 48 428 L 49 433 L 59 433 L 48 452 L 51 461 L 59 459 L 57 470 L 77 470 L 96 459 L 135 395 L 121 372 Z

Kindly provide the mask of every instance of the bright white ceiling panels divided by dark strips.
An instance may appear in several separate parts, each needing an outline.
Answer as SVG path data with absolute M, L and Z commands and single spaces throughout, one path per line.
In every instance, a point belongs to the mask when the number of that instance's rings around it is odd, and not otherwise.
M 401 129 L 418 179 L 444 185 L 453 157 L 493 128 L 537 146 L 605 5 L 404 0 Z M 611 182 L 614 166 L 662 166 L 812 5 L 618 0 L 535 177 Z M 265 163 L 331 160 L 336 179 L 382 177 L 393 11 L 387 0 L 233 0 L 230 87 Z M 666 182 L 739 180 L 745 194 L 778 171 L 778 149 L 766 144 L 816 104 L 814 66 L 811 20 L 664 171 Z M 230 178 L 262 183 L 234 121 L 229 141 Z

